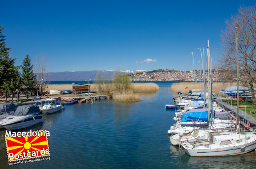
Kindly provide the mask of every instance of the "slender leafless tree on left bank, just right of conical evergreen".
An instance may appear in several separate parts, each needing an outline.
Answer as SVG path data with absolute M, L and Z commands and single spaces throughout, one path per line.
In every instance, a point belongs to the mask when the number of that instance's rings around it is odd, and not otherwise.
M 45 55 L 40 54 L 39 56 L 36 56 L 34 72 L 36 73 L 36 78 L 39 81 L 39 88 L 41 92 L 40 98 L 49 83 L 48 73 L 50 72 L 50 68 L 50 61 L 48 61 Z

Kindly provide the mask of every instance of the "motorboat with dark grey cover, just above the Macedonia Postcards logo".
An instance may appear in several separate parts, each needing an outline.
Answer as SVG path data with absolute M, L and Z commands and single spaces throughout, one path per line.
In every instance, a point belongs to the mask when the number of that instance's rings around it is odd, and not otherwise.
M 16 111 L 12 116 L 3 119 L 0 125 L 7 130 L 18 130 L 22 128 L 27 128 L 42 122 L 44 119 L 40 113 L 38 105 L 24 105 L 18 106 Z

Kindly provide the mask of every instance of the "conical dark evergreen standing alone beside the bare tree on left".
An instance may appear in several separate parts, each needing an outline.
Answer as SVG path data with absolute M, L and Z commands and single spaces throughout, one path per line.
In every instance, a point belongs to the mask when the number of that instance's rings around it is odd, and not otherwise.
M 33 72 L 33 65 L 31 64 L 31 59 L 28 55 L 22 61 L 21 65 L 21 82 L 22 89 L 28 93 L 34 88 L 37 88 L 36 75 Z

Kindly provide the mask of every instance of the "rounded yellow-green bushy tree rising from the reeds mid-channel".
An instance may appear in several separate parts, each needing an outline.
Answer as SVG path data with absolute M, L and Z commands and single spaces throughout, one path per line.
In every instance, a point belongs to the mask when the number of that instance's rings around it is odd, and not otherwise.
M 121 71 L 120 69 L 116 69 L 113 75 L 113 84 L 120 93 L 129 90 L 131 86 L 131 82 L 129 80 L 129 76 L 125 71 Z

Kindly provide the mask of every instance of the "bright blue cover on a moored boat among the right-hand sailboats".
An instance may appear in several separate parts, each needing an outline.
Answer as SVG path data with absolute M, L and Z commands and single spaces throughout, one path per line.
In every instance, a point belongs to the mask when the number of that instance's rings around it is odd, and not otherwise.
M 192 120 L 208 122 L 208 108 L 190 109 L 181 118 L 181 122 Z

